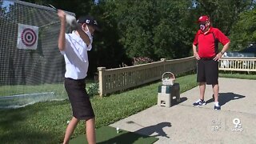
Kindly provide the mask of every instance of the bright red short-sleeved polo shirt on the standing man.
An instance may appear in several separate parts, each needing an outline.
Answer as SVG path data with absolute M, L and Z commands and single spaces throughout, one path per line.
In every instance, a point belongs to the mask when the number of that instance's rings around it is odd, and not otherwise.
M 230 39 L 217 28 L 210 27 L 210 30 L 204 34 L 202 30 L 194 37 L 194 46 L 198 46 L 198 55 L 200 58 L 212 58 L 218 53 L 218 42 L 222 45 L 230 42 Z

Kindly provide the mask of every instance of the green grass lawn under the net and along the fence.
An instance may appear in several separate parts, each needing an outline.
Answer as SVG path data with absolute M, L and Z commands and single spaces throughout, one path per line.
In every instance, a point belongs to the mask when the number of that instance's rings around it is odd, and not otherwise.
M 221 76 L 225 76 L 222 75 Z M 241 75 L 239 75 L 240 77 Z M 242 76 L 241 76 L 242 77 Z M 256 79 L 252 75 L 249 79 Z M 181 93 L 197 86 L 196 75 L 190 74 L 176 79 Z M 107 126 L 157 104 L 158 86 L 154 82 L 134 90 L 111 94 L 104 98 L 91 98 L 96 114 L 96 127 Z M 61 143 L 67 121 L 72 118 L 69 101 L 39 102 L 14 110 L 0 110 L 1 143 Z M 84 133 L 80 122 L 73 137 Z

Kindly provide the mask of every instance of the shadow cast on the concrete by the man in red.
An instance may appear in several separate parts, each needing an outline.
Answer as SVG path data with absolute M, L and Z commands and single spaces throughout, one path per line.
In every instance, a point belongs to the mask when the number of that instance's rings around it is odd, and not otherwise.
M 219 93 L 218 95 L 218 102 L 220 106 L 223 106 L 226 104 L 226 102 L 230 102 L 232 100 L 237 100 L 240 98 L 245 98 L 246 96 L 240 95 L 240 94 L 234 94 L 234 93 Z M 214 98 L 209 99 L 206 101 L 206 103 L 214 102 Z

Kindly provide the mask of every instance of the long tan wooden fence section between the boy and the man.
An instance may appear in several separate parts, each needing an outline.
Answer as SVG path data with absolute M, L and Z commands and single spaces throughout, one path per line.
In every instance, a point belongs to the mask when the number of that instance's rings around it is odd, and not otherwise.
M 182 74 L 195 70 L 195 68 L 194 57 L 174 60 L 162 58 L 159 62 L 109 70 L 106 70 L 105 67 L 98 67 L 99 94 L 102 96 L 160 80 L 162 74 L 167 71 L 173 74 Z

